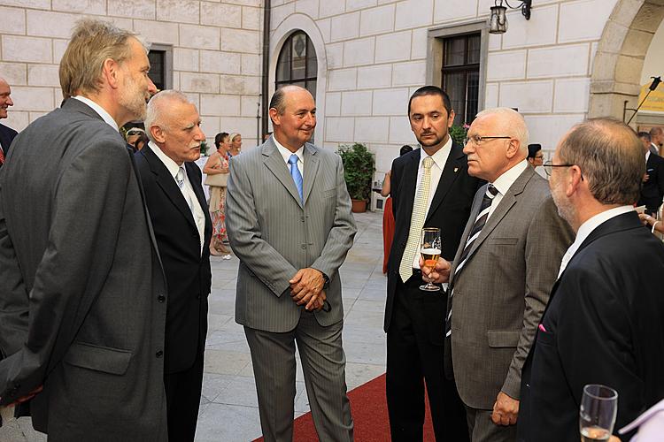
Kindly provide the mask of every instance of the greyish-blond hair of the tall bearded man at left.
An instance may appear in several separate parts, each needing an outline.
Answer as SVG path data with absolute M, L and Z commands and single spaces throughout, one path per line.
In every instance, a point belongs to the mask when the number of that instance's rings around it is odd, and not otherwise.
M 65 99 L 80 93 L 92 94 L 102 84 L 104 61 L 122 63 L 131 56 L 129 40 L 148 45 L 138 35 L 97 19 L 81 19 L 73 27 L 72 39 L 60 61 L 59 76 Z

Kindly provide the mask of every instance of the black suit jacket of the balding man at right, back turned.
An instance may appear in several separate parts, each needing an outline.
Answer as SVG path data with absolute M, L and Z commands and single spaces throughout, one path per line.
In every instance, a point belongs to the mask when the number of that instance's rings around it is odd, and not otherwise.
M 523 367 L 520 441 L 577 442 L 587 384 L 617 390 L 614 433 L 664 398 L 662 287 L 664 246 L 636 212 L 591 232 L 553 286 Z

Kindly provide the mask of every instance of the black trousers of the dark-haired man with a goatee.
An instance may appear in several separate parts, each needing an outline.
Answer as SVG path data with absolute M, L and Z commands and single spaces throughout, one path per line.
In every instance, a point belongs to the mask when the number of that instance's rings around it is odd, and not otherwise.
M 386 393 L 392 441 L 422 440 L 424 383 L 436 441 L 467 441 L 466 410 L 445 378 L 444 292 L 420 290 L 421 276 L 398 282 L 387 335 Z

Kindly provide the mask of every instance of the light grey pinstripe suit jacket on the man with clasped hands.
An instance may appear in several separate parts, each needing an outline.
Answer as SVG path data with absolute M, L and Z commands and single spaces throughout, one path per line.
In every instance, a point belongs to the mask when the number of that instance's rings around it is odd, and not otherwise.
M 287 164 L 272 138 L 230 161 L 226 228 L 240 258 L 235 321 L 252 329 L 283 332 L 295 328 L 304 307 L 290 298 L 290 278 L 313 267 L 328 275 L 329 312 L 319 324 L 344 318 L 341 279 L 355 236 L 351 199 L 341 157 L 306 143 L 304 205 Z

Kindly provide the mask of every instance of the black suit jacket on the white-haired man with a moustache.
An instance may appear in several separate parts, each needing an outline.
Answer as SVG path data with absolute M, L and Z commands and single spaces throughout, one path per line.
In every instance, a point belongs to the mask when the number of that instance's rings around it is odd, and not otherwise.
M 155 237 L 166 271 L 166 374 L 188 370 L 205 349 L 207 296 L 210 293 L 212 222 L 201 185 L 201 171 L 185 163 L 189 182 L 205 213 L 203 255 L 191 210 L 173 176 L 148 146 L 135 154 Z

